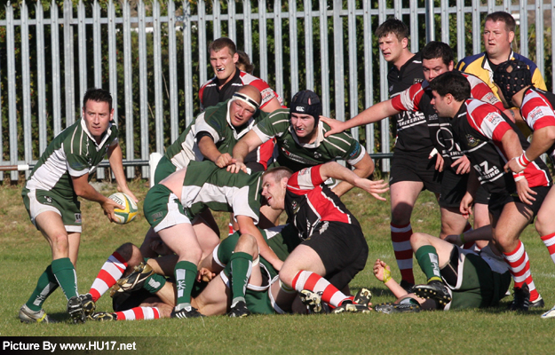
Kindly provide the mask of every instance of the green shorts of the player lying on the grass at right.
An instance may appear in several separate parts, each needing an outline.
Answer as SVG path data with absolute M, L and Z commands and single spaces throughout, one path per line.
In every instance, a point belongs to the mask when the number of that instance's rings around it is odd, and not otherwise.
M 458 280 L 456 285 L 449 285 L 453 300 L 445 309 L 484 308 L 499 304 L 511 285 L 511 273 L 496 272 L 492 266 L 478 254 L 456 248 L 458 252 Z M 504 263 L 489 258 L 490 263 Z M 506 270 L 506 267 L 500 267 Z

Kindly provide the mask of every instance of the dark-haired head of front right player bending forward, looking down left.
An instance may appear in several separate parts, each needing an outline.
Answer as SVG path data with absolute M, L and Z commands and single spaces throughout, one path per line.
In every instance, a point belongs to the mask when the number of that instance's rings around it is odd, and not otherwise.
M 440 116 L 455 117 L 465 99 L 471 97 L 468 79 L 457 71 L 443 73 L 430 83 L 432 106 Z

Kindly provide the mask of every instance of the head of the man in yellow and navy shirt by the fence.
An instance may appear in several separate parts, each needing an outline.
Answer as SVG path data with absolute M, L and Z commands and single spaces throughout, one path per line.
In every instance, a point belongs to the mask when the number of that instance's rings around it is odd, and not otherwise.
M 515 28 L 516 22 L 510 13 L 492 12 L 486 16 L 484 47 L 488 57 L 506 60 L 511 53 Z

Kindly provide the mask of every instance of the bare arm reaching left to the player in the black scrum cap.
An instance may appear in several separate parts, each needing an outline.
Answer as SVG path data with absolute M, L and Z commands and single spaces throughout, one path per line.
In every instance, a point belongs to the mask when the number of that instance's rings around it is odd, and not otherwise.
M 386 101 L 379 102 L 374 106 L 369 106 L 369 108 L 345 122 L 337 121 L 324 116 L 320 116 L 320 119 L 321 121 L 329 124 L 331 130 L 325 134 L 326 137 L 329 137 L 332 134 L 340 133 L 344 130 L 349 130 L 353 127 L 364 124 L 378 122 L 383 120 L 385 117 L 399 113 L 400 111 L 393 107 L 392 99 L 388 99 Z

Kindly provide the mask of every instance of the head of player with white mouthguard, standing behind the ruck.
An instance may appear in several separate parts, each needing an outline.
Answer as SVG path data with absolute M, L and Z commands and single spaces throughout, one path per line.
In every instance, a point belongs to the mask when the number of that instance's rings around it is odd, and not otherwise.
M 220 82 L 227 82 L 235 74 L 235 63 L 239 60 L 237 47 L 234 41 L 227 37 L 221 37 L 210 43 L 210 66 Z

